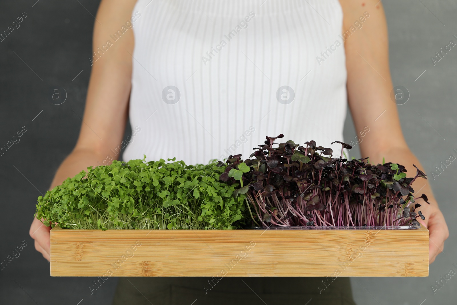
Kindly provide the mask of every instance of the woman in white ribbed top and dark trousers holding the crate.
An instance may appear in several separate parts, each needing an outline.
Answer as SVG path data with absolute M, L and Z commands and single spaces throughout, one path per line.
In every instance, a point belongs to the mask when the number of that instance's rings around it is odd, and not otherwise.
M 363 136 L 361 155 L 415 172 L 420 163 L 390 98 L 387 27 L 377 2 L 102 0 L 84 123 L 51 187 L 112 160 L 128 115 L 139 131 L 124 160 L 146 154 L 206 163 L 249 155 L 266 135 L 280 133 L 329 147 L 342 140 L 346 103 Z M 431 203 L 421 209 L 433 262 L 448 230 L 430 186 L 418 183 Z M 34 219 L 30 232 L 49 260 L 49 228 L 41 225 Z M 325 291 L 321 280 L 227 277 L 207 291 L 207 278 L 121 278 L 115 304 L 355 304 L 348 278 Z

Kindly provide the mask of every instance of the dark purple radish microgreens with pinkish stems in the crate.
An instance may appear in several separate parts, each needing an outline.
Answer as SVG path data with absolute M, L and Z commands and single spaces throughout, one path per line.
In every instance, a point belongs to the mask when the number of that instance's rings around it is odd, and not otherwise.
M 423 215 L 415 211 L 420 204 L 413 205 L 411 184 L 426 176 L 417 167 L 415 177 L 407 178 L 404 166 L 384 159 L 377 165 L 368 158 L 348 161 L 344 150 L 352 147 L 343 142 L 333 142 L 341 144 L 341 156 L 333 158 L 333 150 L 315 141 L 274 143 L 282 137 L 266 137 L 244 162 L 230 156 L 228 175 L 221 175 L 223 181 L 240 181 L 256 225 L 419 225 L 416 217 Z M 241 163 L 252 170 L 238 173 Z

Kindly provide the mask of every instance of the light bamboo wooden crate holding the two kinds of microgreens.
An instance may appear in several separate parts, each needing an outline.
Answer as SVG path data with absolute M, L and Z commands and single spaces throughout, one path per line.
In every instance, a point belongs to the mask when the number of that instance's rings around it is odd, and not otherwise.
M 51 276 L 428 276 L 415 230 L 51 230 Z

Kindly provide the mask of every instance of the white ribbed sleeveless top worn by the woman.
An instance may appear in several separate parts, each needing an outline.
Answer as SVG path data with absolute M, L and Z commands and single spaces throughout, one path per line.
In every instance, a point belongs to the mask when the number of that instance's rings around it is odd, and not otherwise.
M 330 145 L 343 139 L 347 105 L 338 0 L 138 0 L 135 12 L 129 116 L 140 131 L 125 161 L 247 159 L 278 134 L 339 155 Z

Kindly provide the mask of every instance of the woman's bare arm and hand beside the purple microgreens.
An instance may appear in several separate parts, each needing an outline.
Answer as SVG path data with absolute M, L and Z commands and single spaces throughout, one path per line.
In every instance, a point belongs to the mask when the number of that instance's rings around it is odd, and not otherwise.
M 405 166 L 408 177 L 411 177 L 416 172 L 413 164 L 423 169 L 406 144 L 397 106 L 390 98 L 393 85 L 389 70 L 387 24 L 382 3 L 377 2 L 340 0 L 345 16 L 343 29 L 349 29 L 364 12 L 370 14 L 362 27 L 345 41 L 348 102 L 356 131 L 360 132 L 366 126 L 370 128 L 360 144 L 362 157 L 369 156 L 372 164 L 382 163 L 383 158 L 386 162 L 399 163 Z M 412 187 L 415 195 L 425 193 L 431 203 L 417 200 L 422 204 L 420 210 L 426 217 L 424 221 L 419 221 L 430 231 L 431 263 L 443 250 L 449 231 L 428 180 L 418 179 Z

